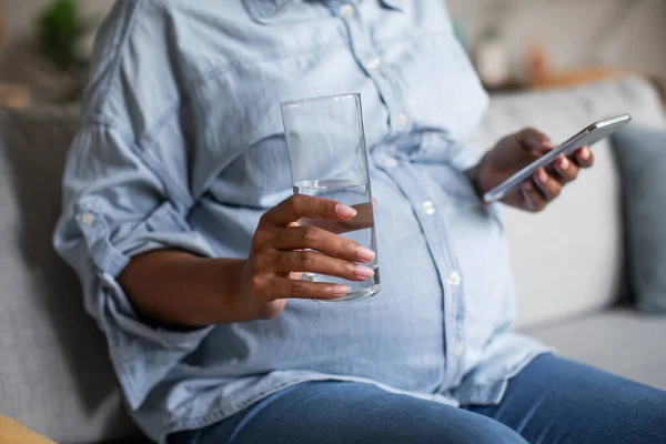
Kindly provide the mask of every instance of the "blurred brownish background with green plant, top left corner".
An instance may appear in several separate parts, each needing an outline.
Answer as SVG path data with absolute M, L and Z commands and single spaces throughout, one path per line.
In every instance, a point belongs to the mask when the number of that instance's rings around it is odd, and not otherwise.
M 0 107 L 80 97 L 94 33 L 113 0 L 0 0 Z

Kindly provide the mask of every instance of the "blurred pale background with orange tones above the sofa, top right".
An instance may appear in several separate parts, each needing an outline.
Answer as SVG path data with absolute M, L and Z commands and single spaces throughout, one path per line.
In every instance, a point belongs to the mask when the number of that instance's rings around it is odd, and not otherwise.
M 558 87 L 630 71 L 666 75 L 664 0 L 451 0 L 492 88 Z

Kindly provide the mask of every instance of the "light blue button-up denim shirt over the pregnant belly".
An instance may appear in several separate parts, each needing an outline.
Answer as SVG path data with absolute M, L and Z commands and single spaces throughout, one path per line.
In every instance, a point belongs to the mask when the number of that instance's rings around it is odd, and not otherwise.
M 280 103 L 346 92 L 363 101 L 382 291 L 292 300 L 273 321 L 143 322 L 117 282 L 130 258 L 245 258 L 261 214 L 292 192 Z M 119 1 L 54 244 L 143 431 L 163 442 L 312 380 L 497 403 L 545 349 L 509 331 L 504 232 L 463 172 L 486 104 L 441 1 Z

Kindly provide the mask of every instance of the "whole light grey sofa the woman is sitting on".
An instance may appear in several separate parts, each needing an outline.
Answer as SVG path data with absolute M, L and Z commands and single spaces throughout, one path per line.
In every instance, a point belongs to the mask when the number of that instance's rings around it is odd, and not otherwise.
M 495 97 L 477 143 L 525 125 L 561 140 L 594 119 L 630 112 L 663 127 L 649 83 L 632 78 Z M 51 249 L 73 109 L 0 111 L 0 413 L 62 443 L 140 436 L 123 411 L 105 344 L 74 274 Z M 666 389 L 666 317 L 626 301 L 620 181 L 607 143 L 597 165 L 545 212 L 504 210 L 518 327 L 572 356 Z

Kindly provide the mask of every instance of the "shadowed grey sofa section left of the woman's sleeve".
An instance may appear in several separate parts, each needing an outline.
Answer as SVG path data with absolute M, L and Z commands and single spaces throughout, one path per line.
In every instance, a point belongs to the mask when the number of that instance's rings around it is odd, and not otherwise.
M 135 435 L 51 235 L 74 110 L 0 111 L 0 413 L 63 443 Z

